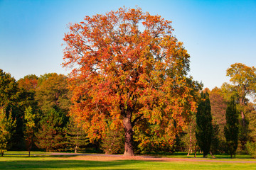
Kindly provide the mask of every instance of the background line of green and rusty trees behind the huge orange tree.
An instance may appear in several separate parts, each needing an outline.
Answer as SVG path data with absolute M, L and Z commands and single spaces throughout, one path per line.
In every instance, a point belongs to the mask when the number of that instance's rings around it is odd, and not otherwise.
M 232 64 L 227 75 L 231 75 L 231 84 L 197 92 L 196 112 L 187 128 L 176 134 L 172 145 L 166 145 L 157 135 L 144 142 L 138 133 L 134 136 L 135 152 L 182 151 L 196 156 L 201 151 L 204 157 L 209 153 L 226 153 L 231 157 L 237 152 L 255 155 L 256 110 L 255 103 L 247 99 L 248 94 L 255 95 L 255 67 Z M 63 74 L 28 75 L 16 81 L 1 70 L 0 80 L 1 154 L 6 149 L 82 152 L 86 147 L 108 154 L 124 152 L 122 128 L 109 128 L 105 137 L 90 140 L 82 123 L 70 117 L 72 91 L 68 89 L 68 77 Z M 151 128 L 154 127 L 147 130 Z

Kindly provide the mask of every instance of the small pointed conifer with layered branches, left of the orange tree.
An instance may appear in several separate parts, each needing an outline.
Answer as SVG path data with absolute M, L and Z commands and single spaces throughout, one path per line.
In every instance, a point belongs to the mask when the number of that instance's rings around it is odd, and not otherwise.
M 66 148 L 75 151 L 75 153 L 82 151 L 89 144 L 85 130 L 78 126 L 73 118 L 70 118 L 67 124 L 66 140 Z

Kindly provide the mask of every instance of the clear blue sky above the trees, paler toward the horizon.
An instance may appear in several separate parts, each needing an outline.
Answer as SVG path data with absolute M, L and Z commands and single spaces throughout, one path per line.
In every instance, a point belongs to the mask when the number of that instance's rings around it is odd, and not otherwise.
M 228 82 L 230 64 L 256 65 L 256 0 L 0 0 L 0 69 L 16 80 L 68 74 L 60 65 L 68 23 L 122 6 L 172 21 L 174 35 L 191 55 L 189 74 L 204 87 Z

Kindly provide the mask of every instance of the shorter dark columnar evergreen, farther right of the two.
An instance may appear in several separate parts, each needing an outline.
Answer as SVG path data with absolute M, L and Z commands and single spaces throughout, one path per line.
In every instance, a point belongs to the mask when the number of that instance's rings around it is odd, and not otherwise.
M 235 98 L 228 102 L 226 110 L 225 138 L 227 143 L 227 152 L 232 158 L 235 156 L 238 148 L 238 111 L 236 108 Z

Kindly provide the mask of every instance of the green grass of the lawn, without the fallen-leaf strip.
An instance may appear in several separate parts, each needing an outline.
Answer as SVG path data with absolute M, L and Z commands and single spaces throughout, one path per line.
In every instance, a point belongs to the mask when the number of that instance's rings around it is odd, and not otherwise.
M 145 161 L 145 160 L 112 160 L 105 161 L 104 157 L 102 160 L 92 161 L 91 158 L 95 156 L 84 157 L 83 160 L 78 160 L 74 156 L 53 156 L 53 155 L 43 155 L 45 152 L 32 152 L 32 154 L 42 154 L 33 155 L 32 157 L 27 157 L 27 155 L 13 155 L 17 152 L 6 152 L 9 155 L 5 157 L 0 157 L 0 169 L 118 169 L 118 170 L 151 170 L 151 169 L 189 169 L 189 170 L 199 170 L 199 169 L 250 169 L 256 170 L 256 160 L 249 159 L 249 157 L 237 157 L 236 159 L 228 159 L 230 162 L 221 162 L 227 159 L 214 159 L 220 162 L 207 162 L 212 160 L 211 158 L 204 159 L 203 162 L 193 162 L 186 161 L 187 158 L 183 158 L 182 154 L 179 157 L 167 156 L 178 158 L 178 161 Z M 18 152 L 19 154 L 26 154 L 26 152 Z M 11 155 L 12 154 L 12 155 Z M 177 156 L 177 155 L 176 155 Z M 79 157 L 81 158 L 81 156 Z M 88 160 L 87 160 L 88 159 Z M 184 160 L 183 160 L 184 159 Z M 192 158 L 191 158 L 192 159 Z M 201 159 L 201 158 L 198 158 Z M 193 160 L 193 159 L 192 159 Z M 239 161 L 240 163 L 233 161 Z M 255 163 L 246 163 L 246 162 Z

